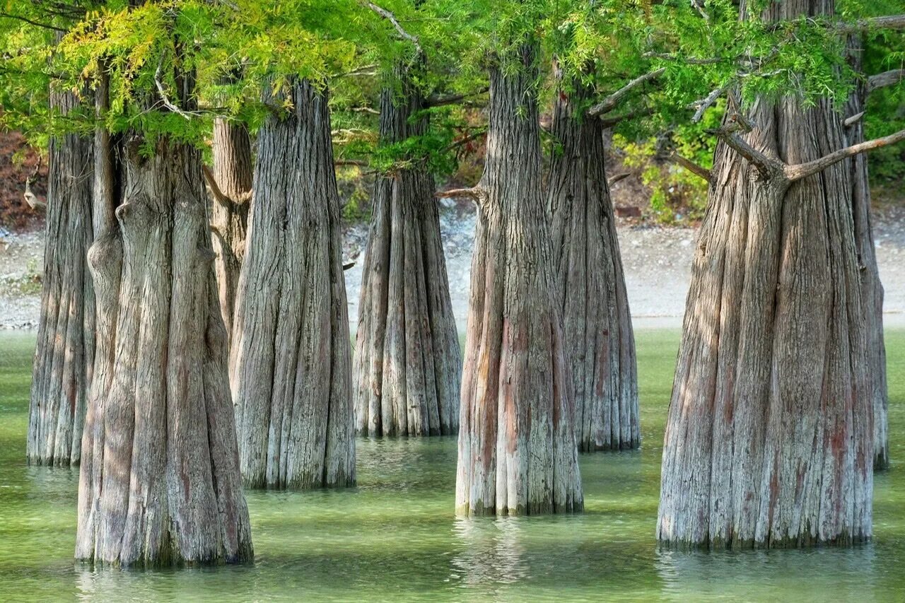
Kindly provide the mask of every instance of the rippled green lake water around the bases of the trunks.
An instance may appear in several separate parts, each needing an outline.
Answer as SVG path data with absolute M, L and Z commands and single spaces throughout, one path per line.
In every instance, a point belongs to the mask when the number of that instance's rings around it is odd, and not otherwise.
M 78 475 L 28 467 L 33 336 L 0 333 L 0 600 L 905 600 L 905 331 L 891 332 L 890 472 L 856 549 L 658 551 L 678 331 L 638 333 L 643 448 L 582 455 L 586 512 L 457 519 L 454 438 L 358 440 L 358 486 L 247 492 L 253 564 L 91 570 L 72 560 Z

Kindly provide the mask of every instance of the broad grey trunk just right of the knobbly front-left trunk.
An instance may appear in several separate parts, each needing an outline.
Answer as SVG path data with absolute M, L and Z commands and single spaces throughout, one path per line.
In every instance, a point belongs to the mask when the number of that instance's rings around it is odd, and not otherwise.
M 291 85 L 258 133 L 230 379 L 244 482 L 355 483 L 339 199 L 326 91 Z

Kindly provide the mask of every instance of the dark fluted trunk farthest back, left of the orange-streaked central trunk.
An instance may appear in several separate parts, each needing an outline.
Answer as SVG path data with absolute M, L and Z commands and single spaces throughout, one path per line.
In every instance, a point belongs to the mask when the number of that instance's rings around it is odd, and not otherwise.
M 380 100 L 386 144 L 424 135 L 410 76 Z M 358 304 L 356 428 L 362 436 L 449 435 L 459 427 L 462 356 L 433 177 L 424 163 L 377 177 Z

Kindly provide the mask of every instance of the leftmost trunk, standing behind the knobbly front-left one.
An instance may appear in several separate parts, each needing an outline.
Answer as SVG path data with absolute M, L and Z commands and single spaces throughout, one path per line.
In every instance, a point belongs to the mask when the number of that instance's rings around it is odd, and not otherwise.
M 52 109 L 79 104 L 51 91 Z M 47 230 L 41 322 L 34 350 L 26 455 L 33 464 L 78 464 L 94 363 L 94 288 L 88 270 L 91 139 L 67 134 L 48 151 Z

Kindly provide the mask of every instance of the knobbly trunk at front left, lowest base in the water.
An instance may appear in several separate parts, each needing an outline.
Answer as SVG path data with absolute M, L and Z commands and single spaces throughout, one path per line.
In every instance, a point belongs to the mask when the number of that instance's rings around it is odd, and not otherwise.
M 183 106 L 190 83 L 181 81 Z M 136 132 L 115 150 L 103 133 L 96 141 L 103 230 L 89 263 L 98 345 L 76 557 L 119 566 L 250 560 L 200 155 L 161 138 L 142 157 Z

